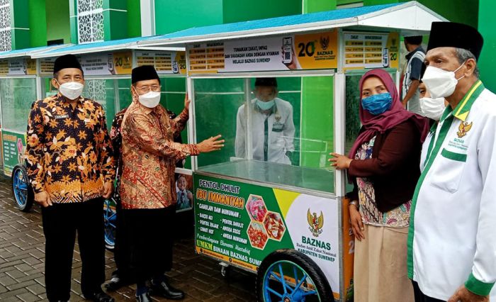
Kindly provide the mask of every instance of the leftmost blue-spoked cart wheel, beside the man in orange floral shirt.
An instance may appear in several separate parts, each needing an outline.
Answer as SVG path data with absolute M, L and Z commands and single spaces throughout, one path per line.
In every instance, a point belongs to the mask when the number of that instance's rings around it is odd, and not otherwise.
M 23 164 L 18 164 L 12 170 L 12 193 L 16 199 L 16 207 L 23 211 L 29 212 L 33 206 L 35 194 L 29 184 L 28 170 Z

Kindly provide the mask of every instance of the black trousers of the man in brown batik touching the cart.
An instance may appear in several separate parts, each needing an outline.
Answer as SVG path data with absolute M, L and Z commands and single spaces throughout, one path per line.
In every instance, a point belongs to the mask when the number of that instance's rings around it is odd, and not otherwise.
M 129 240 L 130 275 L 135 283 L 161 276 L 172 268 L 175 206 L 123 209 L 123 232 Z

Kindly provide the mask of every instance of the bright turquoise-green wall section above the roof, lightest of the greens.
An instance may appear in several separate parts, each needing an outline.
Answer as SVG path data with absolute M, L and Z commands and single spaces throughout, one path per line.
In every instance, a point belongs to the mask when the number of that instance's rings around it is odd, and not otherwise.
M 155 33 L 222 24 L 222 0 L 155 1 Z

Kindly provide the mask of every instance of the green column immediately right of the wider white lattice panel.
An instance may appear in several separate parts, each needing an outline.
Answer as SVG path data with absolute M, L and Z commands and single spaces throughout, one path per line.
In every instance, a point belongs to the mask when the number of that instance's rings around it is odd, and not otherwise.
M 128 2 L 103 0 L 103 30 L 105 40 L 128 38 Z

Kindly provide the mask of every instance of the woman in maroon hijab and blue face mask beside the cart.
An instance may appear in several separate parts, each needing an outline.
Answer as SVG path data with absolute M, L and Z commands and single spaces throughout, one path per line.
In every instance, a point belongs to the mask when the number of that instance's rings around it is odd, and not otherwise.
M 347 169 L 354 183 L 349 194 L 356 239 L 354 301 L 410 302 L 407 234 L 428 122 L 403 108 L 388 72 L 370 70 L 359 86 L 359 136 L 349 156 L 331 153 L 329 160 L 336 169 Z

